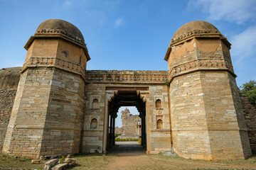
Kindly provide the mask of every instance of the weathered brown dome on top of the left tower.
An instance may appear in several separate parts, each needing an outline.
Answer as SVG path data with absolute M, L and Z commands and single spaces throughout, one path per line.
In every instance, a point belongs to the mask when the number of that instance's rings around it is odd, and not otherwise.
M 43 23 L 41 23 L 36 29 L 36 33 L 46 33 L 45 31 L 48 30 L 50 30 L 50 33 L 52 33 L 51 31 L 58 30 L 61 31 L 60 33 L 71 36 L 78 40 L 82 40 L 83 42 L 85 41 L 80 30 L 72 23 L 67 21 L 60 19 L 50 19 L 43 21 Z

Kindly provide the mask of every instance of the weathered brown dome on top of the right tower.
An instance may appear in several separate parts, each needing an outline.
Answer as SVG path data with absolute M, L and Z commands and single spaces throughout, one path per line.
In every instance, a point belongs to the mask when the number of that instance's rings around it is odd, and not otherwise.
M 192 21 L 190 23 L 186 23 L 185 25 L 178 28 L 176 33 L 174 33 L 174 38 L 180 38 L 182 36 L 191 35 L 193 33 L 220 33 L 213 24 L 208 23 L 206 21 Z M 175 40 L 174 40 L 175 41 Z

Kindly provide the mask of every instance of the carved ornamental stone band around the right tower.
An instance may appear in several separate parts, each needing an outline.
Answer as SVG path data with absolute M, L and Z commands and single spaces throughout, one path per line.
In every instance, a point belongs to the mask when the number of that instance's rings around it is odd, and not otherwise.
M 188 72 L 195 72 L 198 70 L 227 70 L 230 72 L 230 74 L 233 74 L 236 77 L 235 73 L 233 72 L 232 64 L 227 60 L 197 59 L 172 67 L 171 71 L 169 72 L 169 81 L 178 75 L 186 74 Z

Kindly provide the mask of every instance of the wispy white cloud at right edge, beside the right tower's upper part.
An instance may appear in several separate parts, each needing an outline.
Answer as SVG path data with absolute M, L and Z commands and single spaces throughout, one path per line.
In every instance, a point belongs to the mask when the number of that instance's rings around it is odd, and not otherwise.
M 256 25 L 251 26 L 238 35 L 230 38 L 232 48 L 230 52 L 234 58 L 234 65 L 239 66 L 248 58 L 256 55 Z M 252 59 L 253 61 L 253 59 Z

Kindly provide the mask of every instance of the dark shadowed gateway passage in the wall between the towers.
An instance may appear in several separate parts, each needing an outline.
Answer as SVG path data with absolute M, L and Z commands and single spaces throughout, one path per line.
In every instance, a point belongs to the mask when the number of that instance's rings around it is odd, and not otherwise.
M 122 106 L 135 106 L 139 112 L 140 120 L 140 139 L 141 144 L 137 142 L 115 142 L 115 122 L 117 118 L 117 112 Z M 140 154 L 145 153 L 146 150 L 146 102 L 142 100 L 137 91 L 130 91 L 126 89 L 118 90 L 118 93 L 112 98 L 108 103 L 108 126 L 107 126 L 107 151 L 117 153 L 122 152 L 127 154 L 132 154 L 128 152 L 139 151 Z M 143 151 L 144 149 L 144 151 Z M 137 152 L 138 153 L 138 152 Z

